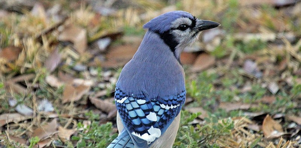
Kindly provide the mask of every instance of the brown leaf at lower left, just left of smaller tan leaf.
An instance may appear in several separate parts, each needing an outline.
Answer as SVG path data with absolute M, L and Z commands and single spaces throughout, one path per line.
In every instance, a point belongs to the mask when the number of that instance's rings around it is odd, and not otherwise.
M 53 119 L 50 123 L 35 129 L 31 137 L 37 136 L 41 140 L 43 140 L 44 138 L 48 138 L 57 132 L 57 126 L 58 125 L 56 119 Z

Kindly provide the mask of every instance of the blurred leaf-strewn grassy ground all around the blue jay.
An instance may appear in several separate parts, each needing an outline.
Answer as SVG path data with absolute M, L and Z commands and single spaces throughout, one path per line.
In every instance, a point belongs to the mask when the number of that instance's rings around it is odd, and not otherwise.
M 105 148 L 142 26 L 173 10 L 221 24 L 181 55 L 173 147 L 300 148 L 300 0 L 0 0 L 0 147 Z

